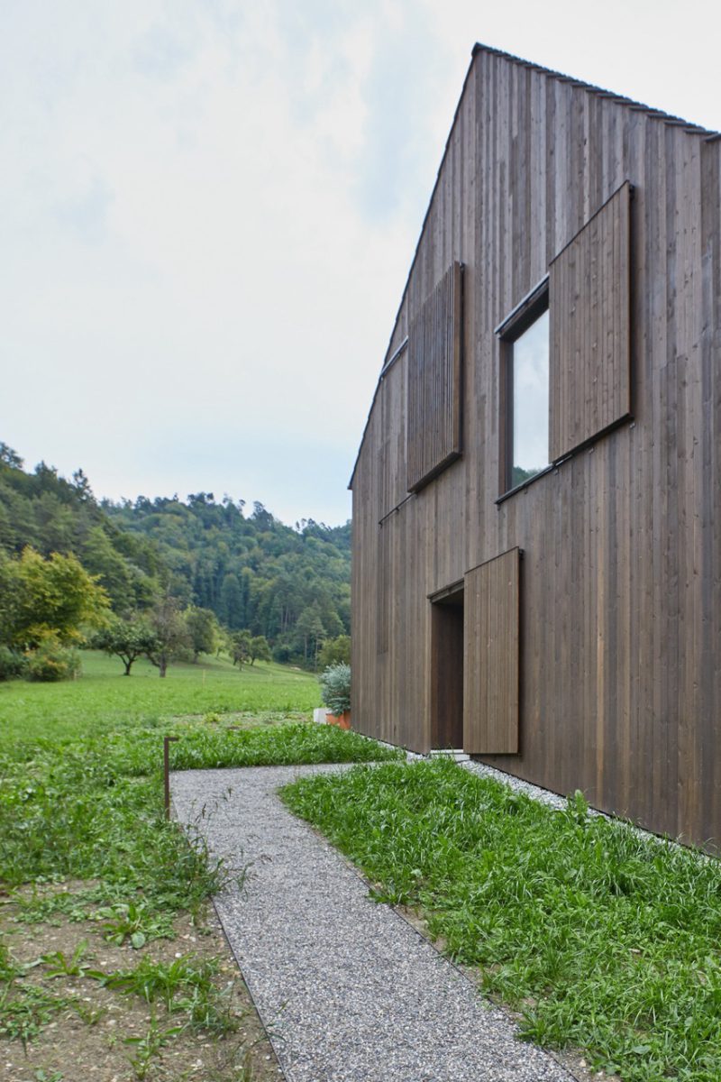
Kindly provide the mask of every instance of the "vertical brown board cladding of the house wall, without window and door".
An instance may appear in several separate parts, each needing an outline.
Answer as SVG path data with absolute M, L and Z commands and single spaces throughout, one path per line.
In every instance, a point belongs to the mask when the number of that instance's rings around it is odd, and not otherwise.
M 596 256 L 591 273 L 611 279 L 611 300 L 604 285 L 599 303 L 614 340 L 628 339 L 633 424 L 617 421 L 629 392 L 614 390 L 615 354 L 598 397 L 586 351 L 607 342 L 591 338 L 591 324 L 601 326 L 591 311 L 588 343 L 585 329 L 576 341 L 584 390 L 569 377 L 555 392 L 557 419 L 572 401 L 586 420 L 576 428 L 558 420 L 555 456 L 586 434 L 593 441 L 496 503 L 504 445 L 494 328 L 547 273 L 558 274 L 551 262 L 562 266 L 556 256 L 589 223 L 600 242 L 610 236 L 606 211 L 617 214 L 614 247 L 605 243 L 606 262 Z M 625 327 L 613 289 L 616 224 L 631 258 Z M 378 385 L 353 475 L 353 727 L 430 748 L 429 595 L 518 546 L 519 751 L 489 761 L 559 793 L 580 789 L 593 806 L 659 832 L 720 845 L 721 140 L 481 49 L 388 357 L 456 262 L 463 457 L 389 519 L 386 652 L 377 646 L 377 535 L 406 494 L 410 349 Z

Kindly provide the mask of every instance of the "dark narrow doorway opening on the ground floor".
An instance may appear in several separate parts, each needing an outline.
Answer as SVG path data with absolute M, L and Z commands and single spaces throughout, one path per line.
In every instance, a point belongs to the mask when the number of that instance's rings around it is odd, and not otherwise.
M 462 749 L 463 588 L 430 608 L 430 747 Z

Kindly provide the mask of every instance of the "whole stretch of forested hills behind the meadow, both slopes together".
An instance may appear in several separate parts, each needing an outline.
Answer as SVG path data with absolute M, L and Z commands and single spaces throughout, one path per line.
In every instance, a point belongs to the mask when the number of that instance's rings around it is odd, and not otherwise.
M 99 576 L 118 612 L 169 592 L 212 609 L 230 631 L 265 635 L 277 660 L 307 660 L 319 639 L 350 628 L 350 523 L 295 528 L 262 503 L 138 497 L 98 502 L 79 470 L 71 480 L 41 462 L 30 473 L 0 444 L 0 550 L 75 553 Z

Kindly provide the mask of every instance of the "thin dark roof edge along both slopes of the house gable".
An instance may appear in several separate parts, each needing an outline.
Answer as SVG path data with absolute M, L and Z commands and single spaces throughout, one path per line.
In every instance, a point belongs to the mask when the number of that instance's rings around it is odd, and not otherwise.
M 549 76 L 550 78 L 556 79 L 559 82 L 570 83 L 572 87 L 578 87 L 582 90 L 586 90 L 588 93 L 593 94 L 598 97 L 605 97 L 617 103 L 618 105 L 624 105 L 633 113 L 644 113 L 646 116 L 653 117 L 656 120 L 660 120 L 666 124 L 677 128 L 683 128 L 684 131 L 689 132 L 689 134 L 703 136 L 704 142 L 711 143 L 716 140 L 721 138 L 721 132 L 712 131 L 711 129 L 708 128 L 703 128 L 699 124 L 691 123 L 687 120 L 683 120 L 681 117 L 675 117 L 669 113 L 664 113 L 663 109 L 655 109 L 650 105 L 644 105 L 642 102 L 636 102 L 630 97 L 625 97 L 623 94 L 616 94 L 611 90 L 603 90 L 601 87 L 597 87 L 590 82 L 585 82 L 583 79 L 575 79 L 572 76 L 563 75 L 561 71 L 555 71 L 552 68 L 544 67 L 542 64 L 534 64 L 533 61 L 524 61 L 520 56 L 513 56 L 512 53 L 506 53 L 502 49 L 494 49 L 492 45 L 483 45 L 479 41 L 477 41 L 473 48 L 471 49 L 470 64 L 468 66 L 468 70 L 466 71 L 466 78 L 464 79 L 463 82 L 460 95 L 458 97 L 458 104 L 456 105 L 455 113 L 453 114 L 453 121 L 451 123 L 451 128 L 449 130 L 449 134 L 445 140 L 445 146 L 443 148 L 443 154 L 441 156 L 441 161 L 436 173 L 436 182 L 433 184 L 432 192 L 430 193 L 430 199 L 428 200 L 428 207 L 426 209 L 426 213 L 423 219 L 423 224 L 420 226 L 420 232 L 418 234 L 418 240 L 415 246 L 415 251 L 413 252 L 413 259 L 411 261 L 411 266 L 409 268 L 408 277 L 405 279 L 403 293 L 401 294 L 400 304 L 398 305 L 398 312 L 396 313 L 396 319 L 393 320 L 393 329 L 391 331 L 390 339 L 388 341 L 388 345 L 384 354 L 384 360 L 380 367 L 380 374 L 378 375 L 378 381 L 375 385 L 375 391 L 373 393 L 373 400 L 371 401 L 371 408 L 369 410 L 365 425 L 363 427 L 363 434 L 361 436 L 361 440 L 358 447 L 358 453 L 356 456 L 356 461 L 353 463 L 353 470 L 350 475 L 350 480 L 348 481 L 349 489 L 352 489 L 353 487 L 353 478 L 356 476 L 356 470 L 358 469 L 358 460 L 360 459 L 360 453 L 363 449 L 363 444 L 365 441 L 365 434 L 368 432 L 368 426 L 371 421 L 371 414 L 373 413 L 373 407 L 375 406 L 375 400 L 378 396 L 378 391 L 380 390 L 380 384 L 384 380 L 386 372 L 391 367 L 391 361 L 395 360 L 396 357 L 402 351 L 403 343 L 396 351 L 393 351 L 392 354 L 390 349 L 393 337 L 396 334 L 396 328 L 398 326 L 398 318 L 400 316 L 401 308 L 403 307 L 403 302 L 405 300 L 405 294 L 408 293 L 409 282 L 411 281 L 411 276 L 413 274 L 413 268 L 415 266 L 416 259 L 418 258 L 418 249 L 420 247 L 420 240 L 423 238 L 426 228 L 426 222 L 428 221 L 428 215 L 430 214 L 430 209 L 433 204 L 433 197 L 436 195 L 436 189 L 439 185 L 441 172 L 443 171 L 443 164 L 445 162 L 445 158 L 449 153 L 449 147 L 451 145 L 451 137 L 453 135 L 456 120 L 458 118 L 458 111 L 460 109 L 460 103 L 463 102 L 464 94 L 466 92 L 466 87 L 468 85 L 468 79 L 470 77 L 470 72 L 473 69 L 476 57 L 480 54 L 484 54 L 486 56 L 497 56 L 500 60 L 507 61 L 509 64 L 515 64 L 519 67 L 526 68 L 531 71 L 538 71 L 540 75 Z

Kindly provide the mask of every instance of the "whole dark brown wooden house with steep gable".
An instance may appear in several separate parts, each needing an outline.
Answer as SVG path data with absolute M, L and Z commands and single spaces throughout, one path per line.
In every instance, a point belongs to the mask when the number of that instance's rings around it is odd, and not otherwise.
M 353 727 L 717 844 L 720 175 L 476 45 L 350 483 Z

